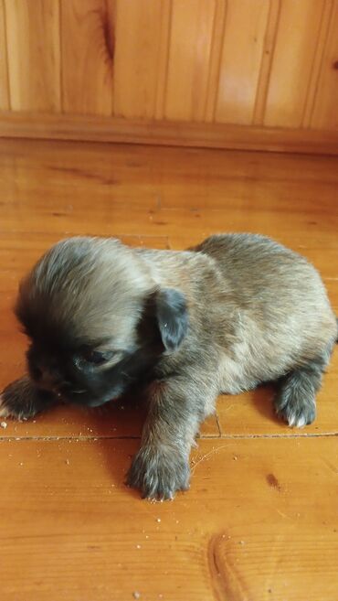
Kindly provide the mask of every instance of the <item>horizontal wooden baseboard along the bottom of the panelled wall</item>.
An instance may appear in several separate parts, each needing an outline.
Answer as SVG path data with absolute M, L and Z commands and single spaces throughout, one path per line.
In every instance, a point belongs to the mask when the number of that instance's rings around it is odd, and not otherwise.
M 338 155 L 338 131 L 226 123 L 174 123 L 89 115 L 3 112 L 0 113 L 0 137 Z

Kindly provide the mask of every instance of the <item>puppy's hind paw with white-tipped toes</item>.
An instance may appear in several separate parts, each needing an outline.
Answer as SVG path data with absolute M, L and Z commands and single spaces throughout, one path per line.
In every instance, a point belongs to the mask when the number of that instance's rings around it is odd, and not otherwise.
M 304 425 L 312 424 L 316 417 L 316 403 L 309 399 L 285 398 L 283 395 L 275 401 L 276 413 L 291 427 L 302 428 Z

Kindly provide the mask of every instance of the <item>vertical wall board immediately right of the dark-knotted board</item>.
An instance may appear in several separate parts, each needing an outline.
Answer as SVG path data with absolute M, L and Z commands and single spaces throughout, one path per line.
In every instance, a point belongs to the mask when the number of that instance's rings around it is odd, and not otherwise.
M 115 2 L 114 113 L 152 118 L 164 86 L 170 3 Z

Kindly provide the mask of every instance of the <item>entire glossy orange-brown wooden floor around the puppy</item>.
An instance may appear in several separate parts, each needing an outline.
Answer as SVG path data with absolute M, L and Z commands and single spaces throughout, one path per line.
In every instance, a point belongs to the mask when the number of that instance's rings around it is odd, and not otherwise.
M 18 279 L 58 239 L 180 249 L 259 231 L 321 270 L 338 313 L 338 160 L 137 145 L 0 142 L 0 388 L 24 370 Z M 315 424 L 272 390 L 220 398 L 192 486 L 151 503 L 123 484 L 137 399 L 0 429 L 1 601 L 337 601 L 338 349 Z

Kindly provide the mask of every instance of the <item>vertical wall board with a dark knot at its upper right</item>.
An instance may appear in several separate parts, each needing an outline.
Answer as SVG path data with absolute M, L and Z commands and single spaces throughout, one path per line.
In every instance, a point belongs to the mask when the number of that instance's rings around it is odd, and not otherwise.
M 111 114 L 112 35 L 111 0 L 61 0 L 65 113 Z

